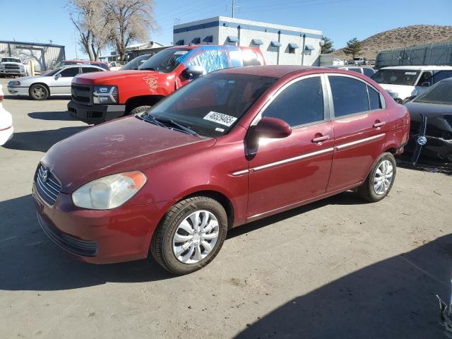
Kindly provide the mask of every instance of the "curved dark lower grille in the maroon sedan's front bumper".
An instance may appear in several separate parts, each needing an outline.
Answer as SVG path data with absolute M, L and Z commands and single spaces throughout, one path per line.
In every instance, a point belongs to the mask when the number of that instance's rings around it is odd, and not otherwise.
M 56 227 L 47 225 L 47 222 L 39 214 L 37 215 L 37 220 L 40 222 L 41 228 L 47 237 L 66 251 L 78 256 L 95 256 L 97 254 L 97 242 L 78 239 L 63 233 L 57 230 Z

